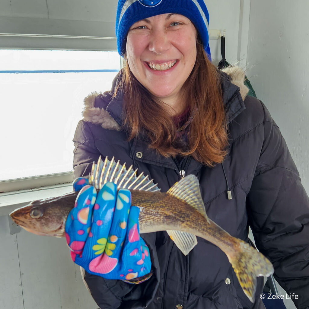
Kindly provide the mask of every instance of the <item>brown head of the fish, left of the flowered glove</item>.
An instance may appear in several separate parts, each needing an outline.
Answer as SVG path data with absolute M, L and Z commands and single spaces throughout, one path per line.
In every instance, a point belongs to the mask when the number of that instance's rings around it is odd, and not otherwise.
M 33 234 L 64 237 L 66 218 L 74 206 L 76 194 L 68 193 L 66 199 L 61 196 L 32 201 L 12 211 L 10 217 L 16 224 Z

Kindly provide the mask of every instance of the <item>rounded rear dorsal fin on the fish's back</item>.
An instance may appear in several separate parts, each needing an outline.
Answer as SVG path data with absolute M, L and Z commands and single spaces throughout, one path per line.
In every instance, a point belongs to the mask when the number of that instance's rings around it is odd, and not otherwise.
M 188 203 L 203 214 L 208 220 L 201 196 L 200 183 L 196 176 L 188 175 L 182 178 L 168 189 L 167 194 Z

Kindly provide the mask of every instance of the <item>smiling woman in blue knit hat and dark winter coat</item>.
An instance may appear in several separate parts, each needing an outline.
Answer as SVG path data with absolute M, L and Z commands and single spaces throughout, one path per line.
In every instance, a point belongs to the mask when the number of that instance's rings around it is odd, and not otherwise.
M 118 2 L 117 44 L 126 66 L 112 91 L 85 99 L 74 136 L 74 177 L 87 176 L 100 155 L 133 164 L 162 192 L 196 175 L 209 218 L 245 241 L 250 225 L 277 281 L 298 295 L 298 308 L 308 308 L 308 197 L 269 112 L 246 97 L 243 72 L 232 69 L 228 77 L 208 59 L 208 20 L 202 0 Z M 97 205 L 106 202 L 102 196 Z M 264 308 L 263 279 L 251 303 L 214 244 L 199 238 L 185 256 L 165 231 L 139 241 L 150 253 L 145 275 L 132 281 L 83 272 L 100 308 Z

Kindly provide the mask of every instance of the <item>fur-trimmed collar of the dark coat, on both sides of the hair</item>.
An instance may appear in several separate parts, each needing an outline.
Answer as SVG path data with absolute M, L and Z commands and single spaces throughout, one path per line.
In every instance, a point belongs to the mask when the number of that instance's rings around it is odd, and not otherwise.
M 239 67 L 225 68 L 220 72 L 223 104 L 227 122 L 230 123 L 244 109 L 243 100 L 249 90 L 244 84 L 245 73 Z M 101 125 L 105 129 L 121 130 L 121 113 L 124 99 L 123 91 L 113 98 L 114 89 L 119 83 L 121 71 L 114 78 L 112 90 L 99 94 L 94 91 L 84 99 L 84 120 Z

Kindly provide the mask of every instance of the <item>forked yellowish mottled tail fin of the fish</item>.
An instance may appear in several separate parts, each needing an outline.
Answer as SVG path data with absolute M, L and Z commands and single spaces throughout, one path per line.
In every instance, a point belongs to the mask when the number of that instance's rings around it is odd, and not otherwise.
M 269 277 L 274 272 L 274 269 L 272 263 L 248 243 L 239 240 L 239 247 L 238 252 L 235 252 L 233 256 L 227 254 L 227 257 L 232 264 L 243 292 L 253 303 L 256 291 L 256 277 Z

